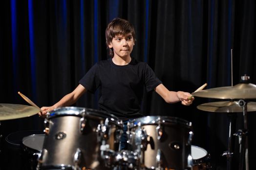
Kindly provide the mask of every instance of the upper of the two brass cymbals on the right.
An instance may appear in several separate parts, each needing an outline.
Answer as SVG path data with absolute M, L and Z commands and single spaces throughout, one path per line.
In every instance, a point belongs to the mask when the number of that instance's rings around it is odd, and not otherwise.
M 193 96 L 213 99 L 256 99 L 256 85 L 238 84 L 216 87 L 192 93 Z

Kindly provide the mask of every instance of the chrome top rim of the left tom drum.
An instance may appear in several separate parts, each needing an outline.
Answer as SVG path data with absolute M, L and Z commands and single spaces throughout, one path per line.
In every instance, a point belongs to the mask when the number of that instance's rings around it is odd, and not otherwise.
M 58 113 L 58 111 L 63 110 L 61 113 Z M 65 110 L 77 110 L 76 113 L 64 113 Z M 97 109 L 91 109 L 91 108 L 85 108 L 85 107 L 58 107 L 51 112 L 47 113 L 46 119 L 52 119 L 55 117 L 60 116 L 77 116 L 77 117 L 91 117 L 91 118 L 105 118 L 109 119 L 109 121 L 113 122 L 116 125 L 121 126 L 122 122 L 121 119 L 118 119 L 115 115 L 112 115 L 106 111 L 97 110 Z

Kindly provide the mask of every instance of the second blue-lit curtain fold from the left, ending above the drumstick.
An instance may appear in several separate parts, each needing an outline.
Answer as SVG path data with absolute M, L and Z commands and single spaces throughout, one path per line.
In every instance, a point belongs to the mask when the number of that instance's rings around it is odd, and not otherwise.
M 29 24 L 29 46 L 30 46 L 30 69 L 31 69 L 31 86 L 32 98 L 35 101 L 36 97 L 36 55 L 34 46 L 34 14 L 33 0 L 28 0 L 28 24 Z

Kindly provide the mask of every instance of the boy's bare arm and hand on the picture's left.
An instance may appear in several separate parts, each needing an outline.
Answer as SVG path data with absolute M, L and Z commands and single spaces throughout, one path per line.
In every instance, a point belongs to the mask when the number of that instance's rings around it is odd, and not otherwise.
M 39 115 L 45 115 L 47 112 L 50 112 L 57 107 L 70 106 L 71 104 L 75 103 L 85 92 L 85 87 L 83 85 L 78 85 L 74 91 L 65 95 L 59 102 L 50 107 L 42 107 Z

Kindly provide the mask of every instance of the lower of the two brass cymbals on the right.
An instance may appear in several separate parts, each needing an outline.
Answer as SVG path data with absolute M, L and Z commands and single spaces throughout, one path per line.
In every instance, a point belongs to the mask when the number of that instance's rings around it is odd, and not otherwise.
M 237 101 L 208 102 L 197 106 L 199 110 L 207 112 L 234 113 L 243 112 Z M 247 112 L 256 111 L 256 102 L 247 103 Z

